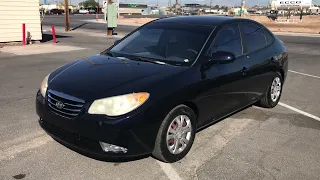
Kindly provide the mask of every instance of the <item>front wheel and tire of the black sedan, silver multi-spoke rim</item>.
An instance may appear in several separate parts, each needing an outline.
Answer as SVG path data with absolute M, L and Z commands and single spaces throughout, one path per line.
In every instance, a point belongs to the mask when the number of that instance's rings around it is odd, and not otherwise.
M 185 157 L 196 134 L 196 115 L 185 105 L 173 108 L 158 131 L 153 156 L 160 161 L 173 163 Z

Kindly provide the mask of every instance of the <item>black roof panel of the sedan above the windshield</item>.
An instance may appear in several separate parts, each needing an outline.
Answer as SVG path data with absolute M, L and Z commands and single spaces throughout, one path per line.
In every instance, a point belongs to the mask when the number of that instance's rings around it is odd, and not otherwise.
M 194 24 L 203 26 L 217 26 L 225 22 L 234 22 L 240 18 L 234 18 L 231 16 L 177 16 L 177 17 L 166 17 L 158 19 L 154 22 L 161 23 L 184 23 L 184 24 Z

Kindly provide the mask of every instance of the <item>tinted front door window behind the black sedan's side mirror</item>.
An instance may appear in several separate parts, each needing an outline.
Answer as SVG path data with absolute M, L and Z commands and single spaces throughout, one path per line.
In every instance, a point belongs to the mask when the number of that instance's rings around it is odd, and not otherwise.
M 240 31 L 237 24 L 223 27 L 209 49 L 209 56 L 217 51 L 227 51 L 235 56 L 242 55 Z

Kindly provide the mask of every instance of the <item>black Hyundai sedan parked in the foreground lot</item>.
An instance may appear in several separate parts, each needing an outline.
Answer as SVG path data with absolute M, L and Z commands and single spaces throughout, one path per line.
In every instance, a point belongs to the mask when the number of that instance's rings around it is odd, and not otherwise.
M 255 21 L 163 18 L 46 76 L 36 109 L 78 152 L 175 162 L 197 130 L 253 104 L 275 107 L 287 71 L 283 42 Z

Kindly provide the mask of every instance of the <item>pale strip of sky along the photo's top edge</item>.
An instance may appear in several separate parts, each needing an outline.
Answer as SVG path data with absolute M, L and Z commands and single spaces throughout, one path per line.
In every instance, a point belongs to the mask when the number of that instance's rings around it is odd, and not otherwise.
M 43 3 L 44 0 L 40 0 L 40 3 Z M 47 4 L 54 3 L 55 1 L 64 2 L 64 0 L 47 0 Z M 70 0 L 69 0 L 70 1 Z M 78 4 L 84 0 L 71 0 L 72 4 Z M 98 2 L 98 0 L 96 0 Z M 103 0 L 99 0 L 100 3 Z M 158 0 L 160 5 L 168 5 L 169 0 Z M 184 3 L 199 3 L 199 4 L 210 4 L 210 0 L 179 0 L 182 4 Z M 157 4 L 157 0 L 120 0 L 122 3 L 144 3 L 144 4 Z M 171 0 L 171 4 L 174 4 L 175 0 Z M 212 0 L 212 5 L 240 5 L 241 0 Z M 267 5 L 269 0 L 247 0 L 247 5 Z

